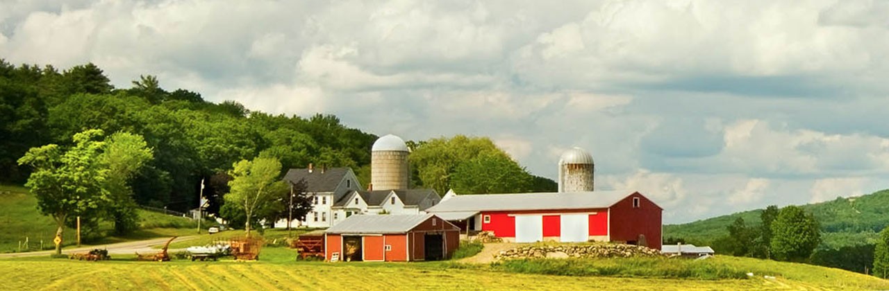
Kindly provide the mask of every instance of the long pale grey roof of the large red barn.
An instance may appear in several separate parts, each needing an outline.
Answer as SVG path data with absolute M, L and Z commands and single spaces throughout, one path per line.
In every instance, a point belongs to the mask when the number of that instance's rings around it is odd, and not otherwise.
M 635 191 L 575 193 L 515 193 L 456 195 L 426 209 L 430 213 L 454 211 L 557 210 L 608 208 Z

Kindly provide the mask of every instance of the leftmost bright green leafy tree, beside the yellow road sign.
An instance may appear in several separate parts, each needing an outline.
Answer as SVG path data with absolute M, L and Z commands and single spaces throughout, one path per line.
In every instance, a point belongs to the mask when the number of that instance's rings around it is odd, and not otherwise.
M 95 213 L 109 199 L 103 187 L 108 169 L 100 163 L 105 145 L 101 135 L 101 130 L 86 130 L 74 135 L 75 146 L 68 151 L 57 145 L 40 146 L 19 160 L 34 169 L 25 186 L 36 196 L 40 212 L 55 220 L 58 237 L 71 217 Z M 60 245 L 56 254 L 61 254 Z

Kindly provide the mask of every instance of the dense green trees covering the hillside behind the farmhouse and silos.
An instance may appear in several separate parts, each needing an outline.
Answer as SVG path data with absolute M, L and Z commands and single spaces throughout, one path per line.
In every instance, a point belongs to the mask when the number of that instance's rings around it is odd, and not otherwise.
M 0 183 L 26 184 L 40 203 L 60 203 L 39 207 L 57 218 L 59 232 L 73 216 L 89 217 L 88 231 L 108 220 L 116 232 L 129 232 L 138 205 L 185 212 L 197 207 L 202 191 L 210 199 L 207 212 L 233 225 L 276 221 L 290 214 L 284 205 L 291 191 L 305 185 L 257 191 L 247 186 L 255 184 L 254 168 L 280 181 L 285 169 L 308 163 L 349 167 L 366 185 L 376 138 L 329 114 L 265 114 L 235 101 L 208 102 L 190 90 L 164 90 L 153 75 L 119 89 L 92 63 L 60 71 L 0 59 Z M 408 144 L 414 187 L 440 194 L 556 190 L 554 181 L 531 175 L 489 138 Z M 263 202 L 244 201 L 244 193 Z M 301 219 L 310 205 L 294 204 L 293 218 Z

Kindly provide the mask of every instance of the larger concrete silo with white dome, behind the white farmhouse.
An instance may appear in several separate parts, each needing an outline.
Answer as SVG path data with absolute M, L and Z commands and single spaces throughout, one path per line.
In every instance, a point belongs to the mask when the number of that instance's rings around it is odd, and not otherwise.
M 408 154 L 401 138 L 389 134 L 377 139 L 371 149 L 372 190 L 407 189 L 411 181 Z

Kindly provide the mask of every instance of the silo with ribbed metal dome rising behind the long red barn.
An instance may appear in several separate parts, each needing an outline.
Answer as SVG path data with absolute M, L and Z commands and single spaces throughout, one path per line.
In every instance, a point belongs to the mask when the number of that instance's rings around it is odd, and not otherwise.
M 593 156 L 580 147 L 562 153 L 558 161 L 558 192 L 593 191 L 595 169 Z

